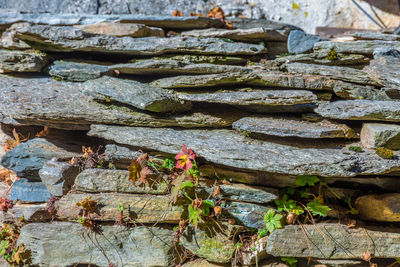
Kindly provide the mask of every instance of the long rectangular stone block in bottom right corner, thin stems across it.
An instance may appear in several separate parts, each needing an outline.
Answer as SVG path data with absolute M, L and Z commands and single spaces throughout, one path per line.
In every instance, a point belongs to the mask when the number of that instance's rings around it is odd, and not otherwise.
M 362 259 L 368 250 L 373 258 L 398 257 L 400 233 L 387 232 L 385 228 L 380 230 L 348 228 L 337 223 L 288 225 L 268 237 L 267 253 L 277 257 Z M 311 246 L 311 254 L 308 246 Z

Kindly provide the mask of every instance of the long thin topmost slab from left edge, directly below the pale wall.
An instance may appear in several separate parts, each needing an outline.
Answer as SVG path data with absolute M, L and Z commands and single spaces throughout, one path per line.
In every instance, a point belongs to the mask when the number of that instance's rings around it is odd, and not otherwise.
M 139 23 L 146 26 L 166 28 L 171 30 L 192 30 L 205 28 L 224 28 L 225 24 L 214 18 L 207 17 L 173 17 L 145 15 L 86 15 L 86 14 L 46 14 L 2 12 L 0 25 L 16 22 L 48 25 L 85 25 L 101 22 Z

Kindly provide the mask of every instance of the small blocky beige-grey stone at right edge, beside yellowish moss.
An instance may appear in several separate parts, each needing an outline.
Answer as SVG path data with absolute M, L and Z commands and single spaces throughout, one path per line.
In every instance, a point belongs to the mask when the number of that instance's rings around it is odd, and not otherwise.
M 400 126 L 383 123 L 363 123 L 361 144 L 366 148 L 400 149 Z

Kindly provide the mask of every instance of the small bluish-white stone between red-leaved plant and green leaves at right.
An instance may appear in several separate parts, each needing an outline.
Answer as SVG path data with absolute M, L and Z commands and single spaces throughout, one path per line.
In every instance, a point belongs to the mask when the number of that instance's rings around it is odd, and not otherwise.
M 244 202 L 223 202 L 222 214 L 235 219 L 235 222 L 246 227 L 265 229 L 264 214 L 270 207 Z

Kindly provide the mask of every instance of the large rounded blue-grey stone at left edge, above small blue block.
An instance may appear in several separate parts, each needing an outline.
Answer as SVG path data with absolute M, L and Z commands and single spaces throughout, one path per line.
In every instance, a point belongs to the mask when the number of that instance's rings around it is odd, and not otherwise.
M 79 153 L 78 147 L 65 146 L 59 141 L 35 138 L 19 144 L 1 158 L 1 165 L 17 176 L 30 181 L 40 181 L 39 170 L 47 160 L 57 157 L 69 159 Z

